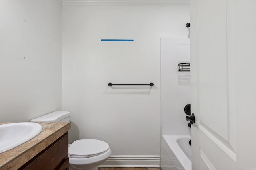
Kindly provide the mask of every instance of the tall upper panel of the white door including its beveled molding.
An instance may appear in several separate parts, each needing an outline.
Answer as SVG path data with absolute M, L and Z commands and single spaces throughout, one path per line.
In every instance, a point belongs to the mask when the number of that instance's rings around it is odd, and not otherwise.
M 231 82 L 234 74 L 230 62 L 233 56 L 229 55 L 232 50 L 229 38 L 233 37 L 228 36 L 227 14 L 230 10 L 227 6 L 232 3 L 198 0 L 198 117 L 199 128 L 236 160 L 236 122 L 232 110 L 235 94 Z

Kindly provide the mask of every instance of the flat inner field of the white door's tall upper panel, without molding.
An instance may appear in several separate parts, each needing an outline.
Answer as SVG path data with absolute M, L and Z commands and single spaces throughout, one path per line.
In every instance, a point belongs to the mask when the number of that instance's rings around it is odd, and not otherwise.
M 198 104 L 199 114 L 203 113 L 199 115 L 200 121 L 228 141 L 226 105 L 228 74 L 224 0 L 198 0 L 198 57 L 198 86 L 200 87 Z

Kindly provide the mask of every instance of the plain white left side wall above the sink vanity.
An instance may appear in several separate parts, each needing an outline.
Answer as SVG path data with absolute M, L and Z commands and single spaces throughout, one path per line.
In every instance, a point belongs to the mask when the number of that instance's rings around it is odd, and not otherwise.
M 0 121 L 61 108 L 62 0 L 0 1 Z

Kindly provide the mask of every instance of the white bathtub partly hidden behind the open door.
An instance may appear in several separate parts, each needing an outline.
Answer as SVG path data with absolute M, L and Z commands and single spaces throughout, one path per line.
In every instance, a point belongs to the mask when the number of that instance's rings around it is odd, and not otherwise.
M 161 140 L 162 170 L 191 170 L 189 135 L 163 135 Z

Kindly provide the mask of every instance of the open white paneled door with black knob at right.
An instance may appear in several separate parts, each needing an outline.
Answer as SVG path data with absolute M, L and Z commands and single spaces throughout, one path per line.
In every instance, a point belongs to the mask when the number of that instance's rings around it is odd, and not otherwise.
M 256 170 L 256 0 L 190 0 L 192 170 Z

